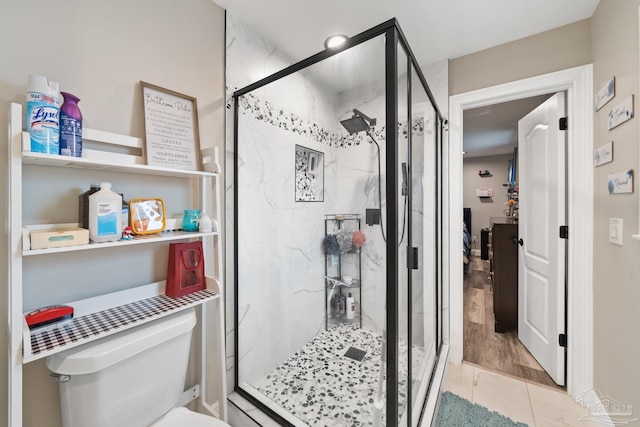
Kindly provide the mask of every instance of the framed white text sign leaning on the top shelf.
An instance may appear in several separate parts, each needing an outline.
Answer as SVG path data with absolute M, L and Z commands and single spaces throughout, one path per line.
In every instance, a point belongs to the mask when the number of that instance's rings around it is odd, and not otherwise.
M 146 82 L 140 86 L 147 164 L 201 170 L 196 98 Z

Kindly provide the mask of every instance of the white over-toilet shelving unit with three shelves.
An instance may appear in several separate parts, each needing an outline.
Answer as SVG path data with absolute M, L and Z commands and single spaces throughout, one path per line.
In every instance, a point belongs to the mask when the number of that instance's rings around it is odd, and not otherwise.
M 62 157 L 29 151 L 30 135 L 22 130 L 22 106 L 11 104 L 9 109 L 9 198 L 8 198 L 8 323 L 9 323 L 9 414 L 8 425 L 21 426 L 23 365 L 51 354 L 73 348 L 109 335 L 137 327 L 190 307 L 199 307 L 200 337 L 199 380 L 200 407 L 223 420 L 227 417 L 225 381 L 225 327 L 222 283 L 222 243 L 220 226 L 220 168 L 216 158 L 207 170 L 186 171 L 142 164 L 141 156 L 118 155 L 87 150 L 88 158 Z M 85 129 L 85 140 L 103 144 L 142 148 L 139 138 Z M 77 168 L 90 171 L 108 171 L 136 175 L 181 178 L 196 181 L 200 189 L 199 203 L 213 213 L 214 231 L 208 233 L 168 231 L 155 235 L 136 236 L 133 240 L 109 243 L 90 243 L 81 246 L 31 250 L 29 230 L 34 225 L 23 224 L 23 165 Z M 53 254 L 69 254 L 78 251 L 105 251 L 114 247 L 135 246 L 143 251 L 151 245 L 169 244 L 172 241 L 200 239 L 207 260 L 205 290 L 173 299 L 166 296 L 165 282 L 159 281 L 125 290 L 98 295 L 78 301 L 70 301 L 74 317 L 70 322 L 30 330 L 25 322 L 23 301 L 23 274 L 27 268 L 24 260 L 29 257 L 48 257 Z M 148 248 L 148 249 L 146 249 Z M 103 252 L 104 253 L 104 252 Z M 60 256 L 60 255 L 58 255 Z M 44 289 L 43 289 L 44 292 Z M 105 319 L 107 319 L 105 321 Z

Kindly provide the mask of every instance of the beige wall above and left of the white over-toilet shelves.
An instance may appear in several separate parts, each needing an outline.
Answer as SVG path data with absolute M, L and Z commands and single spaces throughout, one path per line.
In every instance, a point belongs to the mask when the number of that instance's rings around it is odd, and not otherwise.
M 8 104 L 24 105 L 28 74 L 45 75 L 58 81 L 62 90 L 78 95 L 85 126 L 137 137 L 143 136 L 140 80 L 194 96 L 201 145 L 217 145 L 224 156 L 224 37 L 224 11 L 211 0 L 3 2 L 0 170 L 7 170 Z M 4 172 L 0 200 L 0 223 L 4 224 Z M 3 234 L 3 242 L 6 239 Z M 3 243 L 0 271 L 6 271 L 6 259 Z M 0 318 L 6 319 L 6 277 L 0 288 Z M 3 327 L 0 384 L 7 384 L 6 347 Z M 29 399 L 25 400 L 24 426 L 58 426 L 56 385 L 47 379 L 42 362 L 25 367 L 25 385 Z M 0 426 L 6 425 L 6 405 L 3 386 Z

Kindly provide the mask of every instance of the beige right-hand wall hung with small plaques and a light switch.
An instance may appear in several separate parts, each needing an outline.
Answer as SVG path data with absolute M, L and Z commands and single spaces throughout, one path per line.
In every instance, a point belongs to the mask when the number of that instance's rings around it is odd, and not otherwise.
M 640 0 L 600 0 L 592 17 L 594 93 L 611 77 L 616 95 L 594 116 L 594 147 L 613 141 L 613 162 L 594 170 L 595 387 L 640 418 L 640 241 L 638 234 L 639 118 L 608 130 L 607 114 L 634 95 L 638 115 L 638 7 Z M 607 175 L 635 171 L 633 194 L 609 195 Z M 624 245 L 609 243 L 609 218 L 624 220 Z

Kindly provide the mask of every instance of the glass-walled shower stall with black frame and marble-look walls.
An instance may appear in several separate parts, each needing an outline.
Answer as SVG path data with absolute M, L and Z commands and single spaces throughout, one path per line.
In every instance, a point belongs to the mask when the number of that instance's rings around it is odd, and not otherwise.
M 419 425 L 442 348 L 444 119 L 396 20 L 233 94 L 236 391 Z

